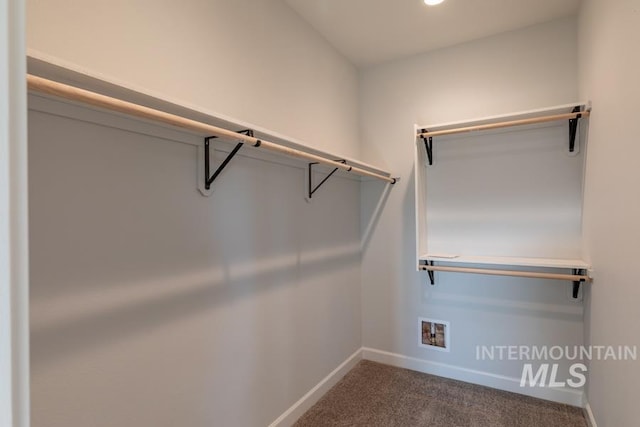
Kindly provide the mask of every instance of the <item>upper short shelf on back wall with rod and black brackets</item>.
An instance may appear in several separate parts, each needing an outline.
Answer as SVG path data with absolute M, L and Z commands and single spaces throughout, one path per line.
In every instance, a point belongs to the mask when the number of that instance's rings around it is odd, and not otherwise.
M 591 109 L 587 103 L 566 104 L 515 114 L 486 117 L 483 119 L 425 126 L 417 128 L 417 137 L 424 142 L 428 162 L 432 165 L 434 161 L 433 141 L 435 137 L 467 132 L 492 131 L 514 126 L 535 126 L 550 122 L 568 121 L 568 151 L 572 153 L 576 150 L 578 121 L 583 117 L 588 117 L 590 113 Z

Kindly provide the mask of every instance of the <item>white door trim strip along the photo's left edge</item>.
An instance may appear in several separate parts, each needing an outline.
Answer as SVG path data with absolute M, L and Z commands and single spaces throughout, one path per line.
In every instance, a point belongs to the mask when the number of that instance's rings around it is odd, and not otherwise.
M 29 425 L 24 6 L 0 0 L 0 425 Z

